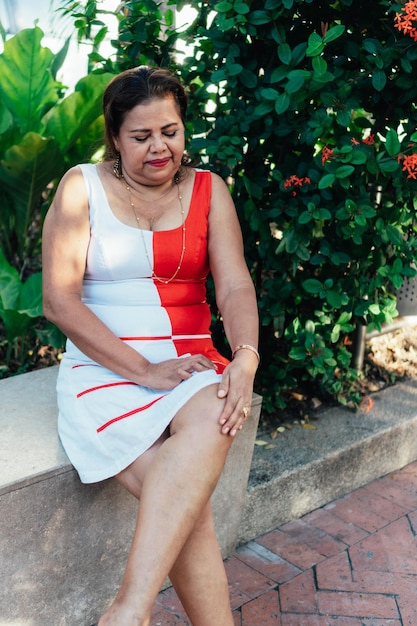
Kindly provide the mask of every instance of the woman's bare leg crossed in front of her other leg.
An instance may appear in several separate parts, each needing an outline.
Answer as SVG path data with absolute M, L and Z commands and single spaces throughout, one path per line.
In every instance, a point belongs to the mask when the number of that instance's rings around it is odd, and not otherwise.
M 154 451 L 144 473 L 138 521 L 123 583 L 100 626 L 149 625 L 162 582 L 200 520 L 232 443 L 220 431 L 218 417 L 223 401 L 217 398 L 216 390 L 217 385 L 213 385 L 196 394 L 174 418 L 171 436 Z M 187 570 L 189 565 L 184 569 L 184 564 L 189 562 L 191 553 L 195 549 L 184 555 L 182 567 L 180 563 L 174 568 L 174 578 Z M 208 622 L 200 622 L 203 623 Z M 233 622 L 226 621 L 224 626 L 229 623 Z

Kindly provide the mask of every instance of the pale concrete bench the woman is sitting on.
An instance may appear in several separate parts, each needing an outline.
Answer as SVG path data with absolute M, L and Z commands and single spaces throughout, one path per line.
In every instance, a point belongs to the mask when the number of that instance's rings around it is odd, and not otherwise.
M 88 626 L 114 597 L 137 502 L 115 480 L 82 485 L 56 432 L 57 367 L 0 381 L 0 626 Z M 213 495 L 222 554 L 236 545 L 261 410 Z

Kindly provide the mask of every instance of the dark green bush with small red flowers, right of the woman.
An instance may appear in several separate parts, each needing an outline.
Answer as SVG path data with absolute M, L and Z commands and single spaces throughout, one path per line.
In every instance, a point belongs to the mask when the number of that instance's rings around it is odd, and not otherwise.
M 188 86 L 188 150 L 229 182 L 243 229 L 265 409 L 295 388 L 357 403 L 355 332 L 389 323 L 415 274 L 417 43 L 399 28 L 404 3 L 376 0 L 370 16 L 360 0 L 197 0 L 177 28 L 174 10 L 191 3 L 122 2 L 110 59 L 101 3 L 66 4 L 96 71 L 157 64 Z

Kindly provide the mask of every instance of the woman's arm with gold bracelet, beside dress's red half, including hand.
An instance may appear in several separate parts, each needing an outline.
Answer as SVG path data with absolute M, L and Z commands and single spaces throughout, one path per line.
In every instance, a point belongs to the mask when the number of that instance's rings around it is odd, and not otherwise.
M 212 174 L 209 214 L 209 260 L 216 302 L 232 351 L 240 348 L 223 373 L 218 395 L 225 398 L 220 416 L 222 432 L 234 436 L 246 419 L 258 367 L 258 309 L 256 293 L 243 253 L 242 233 L 233 200 L 224 181 Z M 245 409 L 245 410 L 244 410 Z

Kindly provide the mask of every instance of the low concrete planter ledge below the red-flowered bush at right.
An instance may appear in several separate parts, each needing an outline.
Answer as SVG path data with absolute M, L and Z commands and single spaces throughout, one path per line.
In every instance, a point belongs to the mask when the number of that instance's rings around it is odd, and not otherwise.
M 239 544 L 417 459 L 417 381 L 372 399 L 369 413 L 334 408 L 315 430 L 294 426 L 274 449 L 255 447 Z

